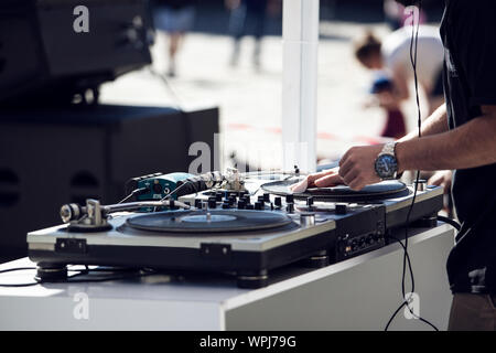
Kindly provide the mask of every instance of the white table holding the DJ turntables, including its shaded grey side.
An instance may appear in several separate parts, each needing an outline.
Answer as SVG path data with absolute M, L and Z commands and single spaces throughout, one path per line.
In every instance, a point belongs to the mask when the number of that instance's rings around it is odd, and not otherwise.
M 420 315 L 445 330 L 454 231 L 440 223 L 413 232 L 409 254 Z M 291 266 L 256 290 L 204 275 L 0 287 L 0 330 L 382 330 L 401 303 L 402 256 L 391 244 L 322 269 Z M 24 258 L 0 269 L 25 266 L 34 264 Z M 1 274 L 0 282 L 31 282 L 34 272 Z M 400 311 L 391 329 L 430 328 Z

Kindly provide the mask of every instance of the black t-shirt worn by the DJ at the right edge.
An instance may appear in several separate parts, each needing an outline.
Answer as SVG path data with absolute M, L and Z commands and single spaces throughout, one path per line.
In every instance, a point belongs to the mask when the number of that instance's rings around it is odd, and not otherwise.
M 479 117 L 481 106 L 496 105 L 496 1 L 446 0 L 441 38 L 454 129 Z M 462 222 L 448 259 L 452 291 L 496 293 L 496 164 L 456 170 L 452 191 Z

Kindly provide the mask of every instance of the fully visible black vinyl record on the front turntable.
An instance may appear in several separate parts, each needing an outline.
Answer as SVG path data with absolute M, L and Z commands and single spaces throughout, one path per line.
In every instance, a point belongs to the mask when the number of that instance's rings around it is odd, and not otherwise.
M 134 229 L 166 233 L 223 233 L 277 228 L 290 224 L 282 213 L 245 210 L 174 211 L 134 216 Z

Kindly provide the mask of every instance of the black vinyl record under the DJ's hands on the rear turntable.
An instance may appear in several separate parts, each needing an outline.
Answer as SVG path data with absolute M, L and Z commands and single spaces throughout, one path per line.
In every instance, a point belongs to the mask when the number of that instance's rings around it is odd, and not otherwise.
M 306 199 L 313 196 L 319 201 L 328 202 L 362 202 L 362 201 L 379 201 L 386 199 L 407 196 L 410 191 L 402 182 L 397 180 L 382 181 L 377 184 L 365 186 L 360 191 L 354 191 L 346 185 L 337 185 L 333 188 L 312 188 L 303 193 L 293 193 L 290 186 L 301 181 L 302 178 L 294 178 L 284 181 L 276 181 L 263 184 L 263 191 L 276 195 L 293 194 L 295 199 Z

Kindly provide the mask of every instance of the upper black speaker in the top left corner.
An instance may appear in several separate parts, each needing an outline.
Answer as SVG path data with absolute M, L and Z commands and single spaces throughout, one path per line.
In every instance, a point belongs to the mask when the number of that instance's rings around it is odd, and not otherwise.
M 87 32 L 74 29 L 82 6 Z M 97 98 L 101 83 L 151 63 L 151 31 L 148 0 L 1 0 L 0 104 Z

